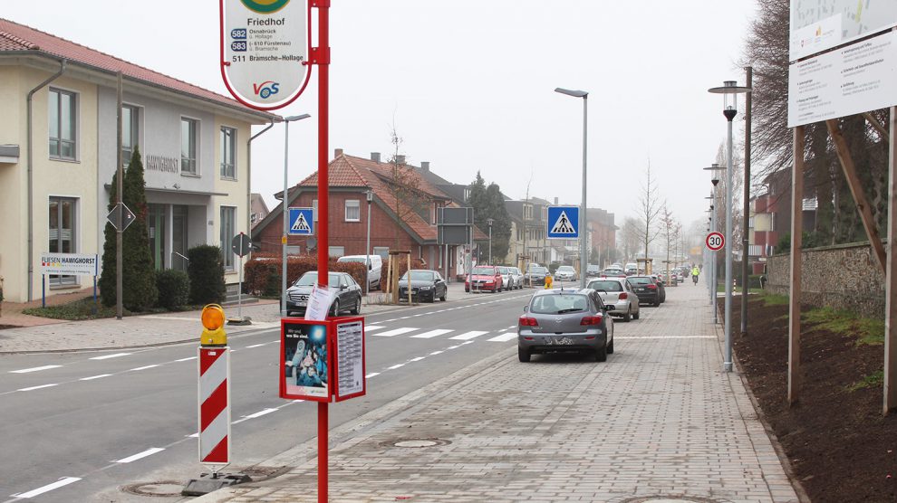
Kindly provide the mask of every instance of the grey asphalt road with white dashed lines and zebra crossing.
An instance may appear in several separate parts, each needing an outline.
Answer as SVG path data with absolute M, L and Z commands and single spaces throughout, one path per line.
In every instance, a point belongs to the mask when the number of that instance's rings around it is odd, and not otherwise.
M 525 290 L 371 315 L 367 395 L 330 427 L 516 344 Z M 617 325 L 620 327 L 620 325 Z M 279 330 L 231 337 L 232 463 L 252 467 L 316 435 L 315 403 L 279 398 Z M 0 358 L 0 502 L 178 501 L 198 463 L 197 346 Z M 335 439 L 331 439 L 333 442 Z M 315 451 L 309 451 L 313 457 Z

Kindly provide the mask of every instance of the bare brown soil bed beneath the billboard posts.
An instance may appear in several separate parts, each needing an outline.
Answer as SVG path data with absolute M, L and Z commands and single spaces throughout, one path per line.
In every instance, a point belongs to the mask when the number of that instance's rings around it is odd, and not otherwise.
M 883 368 L 883 346 L 805 323 L 799 401 L 788 407 L 788 307 L 751 299 L 747 337 L 732 311 L 741 370 L 812 501 L 897 501 L 897 414 L 883 417 L 882 384 L 848 389 Z

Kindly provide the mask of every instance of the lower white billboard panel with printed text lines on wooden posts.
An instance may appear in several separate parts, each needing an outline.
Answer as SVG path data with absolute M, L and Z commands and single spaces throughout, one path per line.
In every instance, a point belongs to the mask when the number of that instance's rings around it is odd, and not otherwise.
M 897 33 L 884 33 L 788 69 L 788 127 L 897 105 Z

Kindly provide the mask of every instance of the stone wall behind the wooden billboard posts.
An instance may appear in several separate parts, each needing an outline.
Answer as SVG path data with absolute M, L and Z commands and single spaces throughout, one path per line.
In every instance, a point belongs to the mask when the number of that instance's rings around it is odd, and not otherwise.
M 884 272 L 868 242 L 802 251 L 801 303 L 844 308 L 865 317 L 884 317 Z M 767 259 L 767 289 L 788 294 L 790 254 Z

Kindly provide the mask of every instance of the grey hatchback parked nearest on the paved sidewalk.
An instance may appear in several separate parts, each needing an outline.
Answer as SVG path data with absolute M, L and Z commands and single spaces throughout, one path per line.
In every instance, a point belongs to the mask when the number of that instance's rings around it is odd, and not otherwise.
M 517 357 L 575 351 L 607 360 L 613 353 L 613 320 L 593 289 L 535 292 L 517 321 Z

